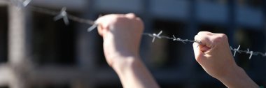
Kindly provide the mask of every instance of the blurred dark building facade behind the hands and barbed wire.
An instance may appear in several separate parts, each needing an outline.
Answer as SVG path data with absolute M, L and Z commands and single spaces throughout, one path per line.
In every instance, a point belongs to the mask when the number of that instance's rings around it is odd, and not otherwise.
M 228 35 L 240 50 L 265 52 L 266 0 L 32 0 L 30 6 L 90 20 L 109 13 L 135 13 L 146 33 L 193 40 L 198 31 Z M 90 25 L 63 20 L 0 1 L 0 88 L 122 87 L 104 59 L 102 38 Z M 163 88 L 225 87 L 195 61 L 192 43 L 144 36 L 141 57 Z M 266 57 L 236 54 L 235 61 L 266 85 Z

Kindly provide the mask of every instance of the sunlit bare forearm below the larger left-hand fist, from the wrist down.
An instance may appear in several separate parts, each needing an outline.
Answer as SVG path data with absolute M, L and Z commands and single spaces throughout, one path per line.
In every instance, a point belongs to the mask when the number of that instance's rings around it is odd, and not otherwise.
M 113 69 L 125 88 L 158 88 L 157 82 L 139 57 L 119 57 L 125 60 L 113 64 Z

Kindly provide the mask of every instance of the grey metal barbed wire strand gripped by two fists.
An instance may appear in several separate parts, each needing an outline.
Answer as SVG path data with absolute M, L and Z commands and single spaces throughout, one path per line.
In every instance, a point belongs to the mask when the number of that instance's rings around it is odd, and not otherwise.
M 10 0 L 11 4 L 13 4 L 14 6 L 17 6 L 19 9 L 20 8 L 28 8 L 29 10 L 33 10 L 36 11 L 38 13 L 44 13 L 44 14 L 48 14 L 48 15 L 54 15 L 55 17 L 53 18 L 55 21 L 63 19 L 64 20 L 64 24 L 68 25 L 69 24 L 69 20 L 72 20 L 74 22 L 79 22 L 79 23 L 83 23 L 83 24 L 89 24 L 91 25 L 87 31 L 90 32 L 93 29 L 95 29 L 97 27 L 97 23 L 95 23 L 93 20 L 86 20 L 80 17 L 76 17 L 74 15 L 70 15 L 69 13 L 66 12 L 66 7 L 63 7 L 61 9 L 61 11 L 55 11 L 55 10 L 49 10 L 47 8 L 40 8 L 40 7 L 36 7 L 36 6 L 30 6 L 29 3 L 31 2 L 31 0 Z M 176 36 L 172 35 L 172 37 L 169 36 L 161 36 L 162 31 L 160 31 L 158 34 L 149 34 L 149 33 L 144 33 L 144 36 L 150 36 L 153 38 L 152 43 L 154 43 L 155 38 L 165 38 L 165 39 L 169 39 L 172 41 L 179 41 L 182 42 L 184 44 L 186 43 L 199 43 L 202 44 L 200 41 L 195 41 L 195 40 L 188 40 L 188 39 L 181 39 L 181 38 L 176 38 Z M 249 49 L 247 50 L 239 50 L 240 45 L 237 48 L 232 48 L 230 46 L 230 50 L 232 50 L 232 52 L 234 52 L 233 56 L 235 57 L 236 53 L 238 52 L 239 54 L 241 53 L 245 53 L 245 54 L 250 54 L 249 59 L 251 59 L 251 57 L 253 55 L 257 56 L 257 55 L 261 55 L 262 57 L 266 57 L 266 52 L 253 52 Z

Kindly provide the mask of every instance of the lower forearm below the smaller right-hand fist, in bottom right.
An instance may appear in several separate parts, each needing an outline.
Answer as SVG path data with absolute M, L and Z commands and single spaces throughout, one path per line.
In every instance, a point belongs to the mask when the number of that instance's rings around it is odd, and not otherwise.
M 228 73 L 225 78 L 218 78 L 226 87 L 229 88 L 258 88 L 258 85 L 248 77 L 246 72 L 237 67 L 234 73 Z

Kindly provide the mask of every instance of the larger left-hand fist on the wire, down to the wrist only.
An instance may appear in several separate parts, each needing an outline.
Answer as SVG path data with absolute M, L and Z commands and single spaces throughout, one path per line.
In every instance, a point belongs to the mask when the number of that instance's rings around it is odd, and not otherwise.
M 139 57 L 139 43 L 144 24 L 133 13 L 111 14 L 96 21 L 99 35 L 104 38 L 104 55 L 110 66 L 124 61 L 118 57 Z M 123 63 L 123 62 L 122 62 Z

